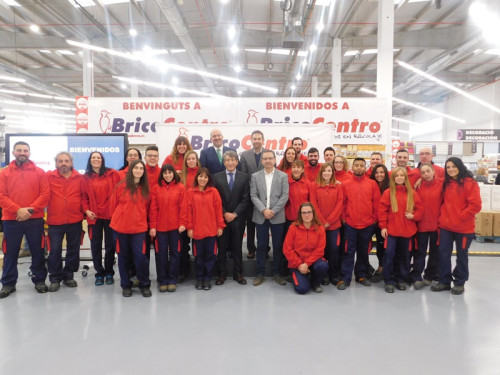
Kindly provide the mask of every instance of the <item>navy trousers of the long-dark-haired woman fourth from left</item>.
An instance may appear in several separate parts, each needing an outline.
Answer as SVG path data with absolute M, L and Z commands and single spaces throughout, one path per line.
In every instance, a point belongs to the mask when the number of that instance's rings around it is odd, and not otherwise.
M 116 232 L 116 252 L 118 253 L 118 271 L 122 288 L 132 288 L 130 280 L 130 264 L 133 262 L 139 287 L 151 285 L 149 279 L 149 259 L 146 256 L 145 233 Z

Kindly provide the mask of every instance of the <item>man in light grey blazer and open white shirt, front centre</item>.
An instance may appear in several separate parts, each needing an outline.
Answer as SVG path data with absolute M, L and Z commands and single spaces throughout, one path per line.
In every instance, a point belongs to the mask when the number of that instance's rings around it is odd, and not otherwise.
M 254 286 L 264 282 L 266 247 L 269 244 L 269 230 L 273 241 L 274 281 L 285 285 L 281 277 L 283 259 L 283 226 L 285 223 L 285 204 L 288 201 L 288 175 L 276 169 L 274 151 L 263 151 L 261 158 L 263 170 L 255 172 L 250 182 L 250 198 L 253 203 L 253 221 L 257 230 L 257 277 Z

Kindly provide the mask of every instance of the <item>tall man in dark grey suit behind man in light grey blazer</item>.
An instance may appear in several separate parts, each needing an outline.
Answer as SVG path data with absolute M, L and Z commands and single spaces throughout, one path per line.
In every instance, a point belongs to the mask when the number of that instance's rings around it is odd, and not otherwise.
M 264 134 L 260 130 L 254 130 L 251 135 L 252 149 L 243 151 L 240 155 L 241 171 L 245 172 L 249 178 L 252 175 L 264 168 L 260 159 L 262 157 L 262 151 L 264 150 Z M 255 224 L 252 221 L 253 215 L 253 204 L 249 204 L 246 213 L 246 224 L 247 224 L 247 258 L 255 258 L 255 252 L 257 248 L 255 247 Z

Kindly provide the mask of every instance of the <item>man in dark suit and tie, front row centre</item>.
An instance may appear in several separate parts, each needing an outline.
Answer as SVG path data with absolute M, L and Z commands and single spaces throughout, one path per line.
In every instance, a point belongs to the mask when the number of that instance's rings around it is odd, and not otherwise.
M 222 199 L 222 213 L 226 222 L 226 228 L 219 237 L 219 253 L 217 254 L 219 275 L 216 285 L 222 285 L 226 281 L 226 258 L 229 249 L 233 253 L 233 280 L 242 285 L 247 283 L 243 278 L 241 246 L 245 229 L 245 212 L 250 201 L 250 184 L 248 175 L 238 171 L 237 165 L 236 151 L 226 151 L 224 153 L 226 169 L 214 175 L 214 186 Z

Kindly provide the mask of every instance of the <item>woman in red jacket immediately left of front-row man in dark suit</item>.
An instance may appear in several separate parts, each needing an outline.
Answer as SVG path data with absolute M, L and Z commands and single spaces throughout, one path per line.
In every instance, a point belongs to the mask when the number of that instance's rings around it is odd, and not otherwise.
M 196 256 L 196 289 L 210 290 L 212 273 L 217 260 L 217 237 L 226 227 L 222 216 L 222 200 L 212 186 L 207 168 L 200 168 L 194 188 L 187 192 L 185 210 L 188 237 L 193 239 Z

